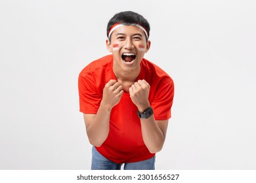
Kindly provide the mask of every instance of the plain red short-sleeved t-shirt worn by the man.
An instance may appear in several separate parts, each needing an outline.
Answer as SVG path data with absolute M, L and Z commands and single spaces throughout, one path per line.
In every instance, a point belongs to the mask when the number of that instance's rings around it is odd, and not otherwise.
M 156 120 L 171 118 L 173 104 L 173 80 L 160 67 L 146 59 L 140 62 L 137 80 L 150 84 L 149 101 Z M 104 56 L 93 61 L 79 74 L 80 111 L 96 114 L 102 100 L 105 84 L 117 80 L 113 72 L 113 56 Z M 123 93 L 119 103 L 110 114 L 110 131 L 106 141 L 96 147 L 98 152 L 115 163 L 132 163 L 152 158 L 142 139 L 138 108 L 131 101 L 129 93 Z

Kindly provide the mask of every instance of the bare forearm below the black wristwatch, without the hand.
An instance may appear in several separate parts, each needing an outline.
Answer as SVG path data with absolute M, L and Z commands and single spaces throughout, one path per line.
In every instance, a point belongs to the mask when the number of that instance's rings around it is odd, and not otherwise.
M 158 126 L 154 115 L 148 119 L 140 119 L 142 138 L 151 153 L 156 153 L 163 147 L 165 136 Z

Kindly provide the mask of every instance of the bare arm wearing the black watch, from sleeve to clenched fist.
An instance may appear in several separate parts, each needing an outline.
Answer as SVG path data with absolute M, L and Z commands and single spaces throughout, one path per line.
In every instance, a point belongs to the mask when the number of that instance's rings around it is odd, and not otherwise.
M 148 94 L 150 85 L 145 80 L 138 80 L 129 88 L 130 97 L 137 105 L 140 112 L 144 112 L 150 107 Z M 142 138 L 151 153 L 156 153 L 161 150 L 165 141 L 165 135 L 168 126 L 168 120 L 156 121 L 154 116 L 148 119 L 140 119 Z

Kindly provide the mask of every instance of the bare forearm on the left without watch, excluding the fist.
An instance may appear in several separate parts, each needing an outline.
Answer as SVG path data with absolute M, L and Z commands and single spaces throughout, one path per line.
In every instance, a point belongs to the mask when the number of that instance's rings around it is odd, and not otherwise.
M 110 130 L 110 112 L 111 109 L 100 105 L 95 118 L 87 127 L 88 139 L 94 146 L 101 146 L 108 137 Z

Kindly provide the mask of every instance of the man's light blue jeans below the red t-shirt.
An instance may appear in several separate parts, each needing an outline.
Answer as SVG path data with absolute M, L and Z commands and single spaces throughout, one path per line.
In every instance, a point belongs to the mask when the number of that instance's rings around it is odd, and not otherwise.
M 92 170 L 120 170 L 122 163 L 114 163 L 102 156 L 93 146 L 93 159 L 91 163 Z M 124 170 L 154 170 L 156 156 L 144 161 L 134 163 L 124 163 Z

